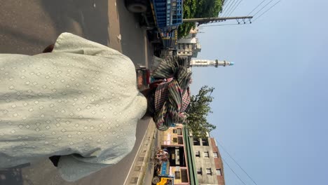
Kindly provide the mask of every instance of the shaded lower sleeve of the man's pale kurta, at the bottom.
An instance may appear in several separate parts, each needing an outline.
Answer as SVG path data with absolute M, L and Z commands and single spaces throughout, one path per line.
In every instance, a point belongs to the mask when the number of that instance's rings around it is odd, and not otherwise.
M 69 155 L 60 157 L 57 169 L 62 179 L 66 181 L 76 181 L 108 166 L 110 165 L 83 162 L 73 155 Z

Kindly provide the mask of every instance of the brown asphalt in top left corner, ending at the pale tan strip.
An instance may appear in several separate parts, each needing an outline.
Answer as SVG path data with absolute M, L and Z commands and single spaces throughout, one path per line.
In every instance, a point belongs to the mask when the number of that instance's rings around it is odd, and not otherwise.
M 0 53 L 41 53 L 62 32 L 107 45 L 108 26 L 108 0 L 4 1 Z

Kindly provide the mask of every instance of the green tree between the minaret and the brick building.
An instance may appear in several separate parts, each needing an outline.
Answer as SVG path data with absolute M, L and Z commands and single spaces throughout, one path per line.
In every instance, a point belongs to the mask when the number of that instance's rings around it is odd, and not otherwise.
M 212 113 L 210 103 L 213 101 L 211 96 L 214 88 L 207 85 L 200 88 L 198 95 L 192 95 L 187 117 L 187 128 L 189 128 L 195 137 L 206 137 L 206 133 L 217 128 L 207 122 L 207 115 Z M 210 95 L 208 95 L 210 93 Z

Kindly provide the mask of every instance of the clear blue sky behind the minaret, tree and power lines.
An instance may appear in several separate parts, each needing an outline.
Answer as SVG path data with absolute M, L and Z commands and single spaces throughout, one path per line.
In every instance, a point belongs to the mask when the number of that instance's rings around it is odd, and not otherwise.
M 247 15 L 261 1 L 242 1 L 231 16 Z M 327 7 L 324 0 L 281 1 L 251 25 L 198 34 L 199 59 L 235 66 L 193 68 L 191 91 L 215 88 L 211 135 L 259 185 L 328 184 Z M 224 167 L 226 184 L 242 184 Z

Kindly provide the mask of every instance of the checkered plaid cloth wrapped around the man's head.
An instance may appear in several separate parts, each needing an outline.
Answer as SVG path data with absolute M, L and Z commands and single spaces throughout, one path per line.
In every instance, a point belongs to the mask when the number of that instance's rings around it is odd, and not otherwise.
M 163 60 L 153 74 L 156 78 L 168 78 L 155 92 L 155 116 L 158 130 L 168 130 L 174 123 L 184 123 L 190 103 L 189 83 L 191 72 L 179 66 L 177 58 Z

